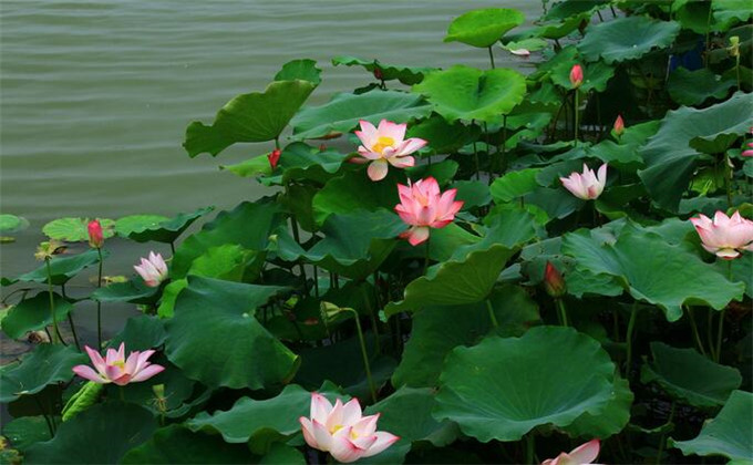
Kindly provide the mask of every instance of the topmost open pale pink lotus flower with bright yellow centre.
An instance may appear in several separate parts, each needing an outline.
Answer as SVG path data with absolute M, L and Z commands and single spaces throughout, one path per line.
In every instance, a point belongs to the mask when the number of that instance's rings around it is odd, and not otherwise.
M 363 158 L 353 158 L 353 161 L 357 163 L 371 161 L 368 169 L 371 180 L 384 179 L 388 165 L 408 168 L 415 164 L 415 159 L 410 155 L 426 145 L 426 141 L 417 137 L 406 140 L 406 126 L 382 120 L 379 127 L 374 127 L 368 121 L 361 121 L 361 131 L 355 131 L 355 135 L 363 144 L 358 147 L 358 153 Z

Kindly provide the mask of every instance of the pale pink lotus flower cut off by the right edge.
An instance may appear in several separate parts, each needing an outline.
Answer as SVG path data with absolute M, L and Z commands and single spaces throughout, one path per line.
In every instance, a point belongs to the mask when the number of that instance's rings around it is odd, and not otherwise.
M 753 250 L 753 221 L 735 211 L 728 217 L 724 211 L 716 211 L 711 220 L 704 215 L 690 218 L 702 246 L 711 254 L 725 260 L 740 257 L 742 250 Z

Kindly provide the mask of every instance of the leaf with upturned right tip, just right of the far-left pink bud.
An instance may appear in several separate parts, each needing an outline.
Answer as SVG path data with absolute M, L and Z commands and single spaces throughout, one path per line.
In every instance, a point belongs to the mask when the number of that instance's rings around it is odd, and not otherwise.
M 155 240 L 157 242 L 172 244 L 188 226 L 214 209 L 215 207 L 199 208 L 187 214 L 179 214 L 173 218 L 159 215 L 126 216 L 115 221 L 115 232 L 136 242 Z

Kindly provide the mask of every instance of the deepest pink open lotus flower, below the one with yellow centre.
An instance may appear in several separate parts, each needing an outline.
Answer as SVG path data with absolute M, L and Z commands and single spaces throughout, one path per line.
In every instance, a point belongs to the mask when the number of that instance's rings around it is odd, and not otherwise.
M 455 219 L 455 214 L 463 208 L 463 202 L 455 202 L 457 189 L 440 193 L 440 185 L 433 177 L 421 179 L 408 186 L 398 184 L 400 204 L 395 211 L 400 218 L 411 226 L 400 235 L 408 238 L 412 246 L 429 239 L 429 228 L 444 228 Z

